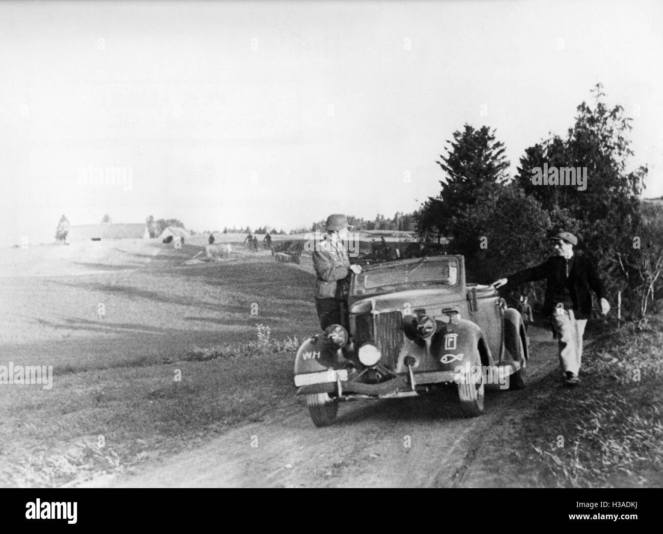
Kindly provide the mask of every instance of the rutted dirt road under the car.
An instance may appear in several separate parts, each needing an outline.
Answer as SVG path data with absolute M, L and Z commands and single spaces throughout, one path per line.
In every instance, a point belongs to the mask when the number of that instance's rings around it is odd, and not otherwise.
M 301 400 L 231 429 L 202 447 L 121 478 L 112 487 L 412 487 L 517 485 L 501 478 L 502 445 L 555 390 L 550 332 L 530 329 L 528 388 L 488 391 L 484 415 L 461 417 L 453 390 L 430 398 L 341 404 L 331 427 L 316 428 Z M 546 380 L 544 380 L 544 378 Z

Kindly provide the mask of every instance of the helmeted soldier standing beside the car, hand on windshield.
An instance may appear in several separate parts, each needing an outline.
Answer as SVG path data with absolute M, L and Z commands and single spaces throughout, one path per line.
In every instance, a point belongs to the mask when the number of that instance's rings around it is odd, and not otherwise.
M 349 328 L 347 296 L 351 272 L 359 274 L 361 266 L 351 265 L 343 241 L 349 237 L 349 224 L 345 215 L 335 213 L 327 218 L 326 239 L 316 243 L 313 266 L 316 269 L 316 311 L 320 326 L 341 325 Z

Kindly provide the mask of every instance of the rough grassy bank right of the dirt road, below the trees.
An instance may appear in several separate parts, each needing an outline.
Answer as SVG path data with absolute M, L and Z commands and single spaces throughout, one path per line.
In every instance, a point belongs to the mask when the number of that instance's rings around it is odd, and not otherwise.
M 596 333 L 583 382 L 524 419 L 514 471 L 540 487 L 663 485 L 663 317 Z M 557 374 L 555 374 L 555 378 Z

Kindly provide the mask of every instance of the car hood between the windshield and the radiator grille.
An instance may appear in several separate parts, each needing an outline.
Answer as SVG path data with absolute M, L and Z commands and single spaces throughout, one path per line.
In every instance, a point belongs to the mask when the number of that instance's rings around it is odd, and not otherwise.
M 359 299 L 350 306 L 350 313 L 371 311 L 371 301 L 375 302 L 376 311 L 392 311 L 395 309 L 402 310 L 406 307 L 406 304 L 409 304 L 412 310 L 417 308 L 430 309 L 442 308 L 452 303 L 462 303 L 464 300 L 464 295 L 461 295 L 457 289 L 452 288 L 408 290 Z

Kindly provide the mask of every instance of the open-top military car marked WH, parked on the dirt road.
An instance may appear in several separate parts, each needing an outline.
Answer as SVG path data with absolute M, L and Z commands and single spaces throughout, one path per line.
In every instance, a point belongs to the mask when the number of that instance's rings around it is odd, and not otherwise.
M 349 331 L 331 325 L 304 341 L 297 395 L 313 423 L 333 423 L 339 401 L 419 396 L 457 388 L 463 413 L 483 412 L 485 387 L 524 386 L 522 317 L 497 290 L 465 282 L 463 256 L 366 266 L 351 278 Z

